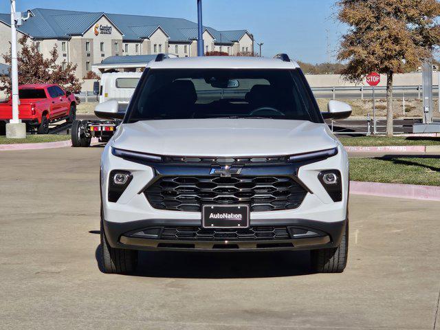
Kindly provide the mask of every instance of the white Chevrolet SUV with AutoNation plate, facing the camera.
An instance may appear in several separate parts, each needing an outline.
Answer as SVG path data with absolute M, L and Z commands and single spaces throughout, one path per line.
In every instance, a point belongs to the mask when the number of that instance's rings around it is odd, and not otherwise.
M 104 272 L 137 250 L 311 250 L 316 272 L 347 264 L 349 162 L 303 72 L 276 58 L 167 58 L 148 64 L 100 168 Z

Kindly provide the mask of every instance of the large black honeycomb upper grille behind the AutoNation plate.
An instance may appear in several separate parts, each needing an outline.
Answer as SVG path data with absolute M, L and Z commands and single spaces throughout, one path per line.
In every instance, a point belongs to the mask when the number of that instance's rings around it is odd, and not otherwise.
M 307 191 L 292 177 L 161 177 L 144 190 L 159 210 L 197 212 L 203 204 L 249 204 L 252 212 L 292 210 Z

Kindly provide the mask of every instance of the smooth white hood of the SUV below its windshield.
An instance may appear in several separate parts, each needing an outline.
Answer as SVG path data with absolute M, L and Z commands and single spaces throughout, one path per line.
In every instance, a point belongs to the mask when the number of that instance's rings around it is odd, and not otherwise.
M 121 124 L 112 146 L 156 155 L 290 155 L 338 146 L 327 124 L 305 120 L 145 120 Z

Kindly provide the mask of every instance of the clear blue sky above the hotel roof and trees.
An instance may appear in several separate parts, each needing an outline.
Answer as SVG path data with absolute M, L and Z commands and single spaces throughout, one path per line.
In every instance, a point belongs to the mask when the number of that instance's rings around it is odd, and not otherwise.
M 219 30 L 250 30 L 256 42 L 264 43 L 263 56 L 286 52 L 300 61 L 322 63 L 327 61 L 327 30 L 332 56 L 344 32 L 344 26 L 333 18 L 334 3 L 334 0 L 203 0 L 203 24 Z M 181 17 L 197 21 L 196 0 L 17 0 L 18 10 L 32 8 Z M 10 1 L 1 1 L 0 12 L 9 10 Z

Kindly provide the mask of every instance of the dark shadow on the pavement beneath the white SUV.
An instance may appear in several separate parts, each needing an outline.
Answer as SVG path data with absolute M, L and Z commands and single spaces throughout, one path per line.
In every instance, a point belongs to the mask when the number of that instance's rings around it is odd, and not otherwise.
M 100 245 L 96 261 L 102 272 Z M 308 251 L 139 252 L 132 276 L 157 278 L 265 278 L 313 274 Z

